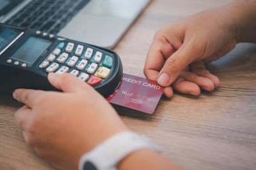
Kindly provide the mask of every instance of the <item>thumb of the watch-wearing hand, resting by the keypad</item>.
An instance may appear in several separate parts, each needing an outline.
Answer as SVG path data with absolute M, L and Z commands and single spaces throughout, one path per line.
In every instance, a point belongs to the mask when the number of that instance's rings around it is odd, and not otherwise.
M 88 84 L 70 73 L 64 73 L 61 75 L 57 73 L 49 73 L 48 80 L 52 86 L 57 89 L 61 89 L 63 92 L 76 93 L 77 91 L 83 91 L 84 89 L 91 88 Z

